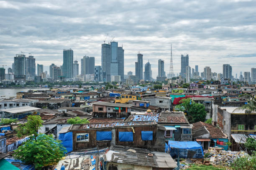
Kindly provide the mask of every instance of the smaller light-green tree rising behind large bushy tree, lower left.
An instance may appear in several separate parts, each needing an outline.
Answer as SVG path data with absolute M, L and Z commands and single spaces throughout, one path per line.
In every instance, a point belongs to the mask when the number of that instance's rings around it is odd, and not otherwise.
M 29 115 L 28 116 L 28 122 L 26 122 L 23 125 L 19 125 L 17 128 L 17 136 L 21 137 L 24 135 L 31 136 L 31 138 L 34 138 L 34 140 L 37 140 L 36 137 L 38 137 L 38 130 L 40 127 L 42 127 L 42 123 L 44 121 L 41 120 L 41 117 L 38 115 Z

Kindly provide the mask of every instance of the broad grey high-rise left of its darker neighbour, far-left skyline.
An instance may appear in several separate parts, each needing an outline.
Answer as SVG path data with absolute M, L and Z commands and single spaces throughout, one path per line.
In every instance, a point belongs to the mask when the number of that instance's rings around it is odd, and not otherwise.
M 23 54 L 16 54 L 14 57 L 14 74 L 16 77 L 25 75 L 25 57 Z

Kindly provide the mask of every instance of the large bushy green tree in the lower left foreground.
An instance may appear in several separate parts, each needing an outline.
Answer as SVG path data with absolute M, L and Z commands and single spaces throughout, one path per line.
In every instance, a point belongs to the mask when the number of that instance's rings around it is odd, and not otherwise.
M 59 162 L 67 150 L 60 140 L 54 140 L 52 135 L 41 134 L 37 140 L 29 139 L 14 151 L 14 158 L 26 164 L 35 165 L 36 170 Z

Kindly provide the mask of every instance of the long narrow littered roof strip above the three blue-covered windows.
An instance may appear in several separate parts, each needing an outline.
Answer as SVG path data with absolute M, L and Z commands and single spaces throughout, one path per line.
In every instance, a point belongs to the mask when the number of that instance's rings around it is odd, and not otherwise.
M 105 123 L 87 123 L 71 125 L 69 131 L 73 130 L 91 130 L 97 128 L 118 128 L 118 127 L 130 127 L 130 126 L 148 126 L 157 125 L 155 121 L 142 121 L 142 122 L 105 122 Z

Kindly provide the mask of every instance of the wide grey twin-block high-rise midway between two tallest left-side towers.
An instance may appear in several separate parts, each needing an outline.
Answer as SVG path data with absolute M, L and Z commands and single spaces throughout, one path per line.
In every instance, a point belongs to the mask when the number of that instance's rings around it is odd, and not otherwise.
M 85 55 L 81 59 L 81 75 L 94 74 L 94 66 L 95 57 L 89 57 Z

